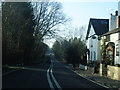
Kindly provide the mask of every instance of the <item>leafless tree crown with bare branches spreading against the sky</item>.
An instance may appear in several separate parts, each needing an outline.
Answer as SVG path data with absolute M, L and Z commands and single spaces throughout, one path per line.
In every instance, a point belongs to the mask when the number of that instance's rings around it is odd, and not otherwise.
M 52 36 L 58 30 L 57 26 L 64 24 L 67 19 L 61 11 L 59 2 L 35 2 L 33 3 L 36 28 L 34 35 L 40 40 L 44 36 Z

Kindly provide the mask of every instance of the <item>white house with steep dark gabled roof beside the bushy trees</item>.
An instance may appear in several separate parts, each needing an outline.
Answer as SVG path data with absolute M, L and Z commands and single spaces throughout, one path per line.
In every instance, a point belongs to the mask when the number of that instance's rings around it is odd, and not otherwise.
M 109 31 L 109 19 L 90 18 L 86 34 L 87 60 L 100 60 L 100 36 Z

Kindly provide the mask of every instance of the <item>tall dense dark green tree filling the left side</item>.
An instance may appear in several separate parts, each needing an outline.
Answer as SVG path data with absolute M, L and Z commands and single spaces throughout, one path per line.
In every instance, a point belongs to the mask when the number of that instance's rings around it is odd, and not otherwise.
M 34 43 L 34 25 L 30 3 L 2 3 L 3 64 L 27 62 Z

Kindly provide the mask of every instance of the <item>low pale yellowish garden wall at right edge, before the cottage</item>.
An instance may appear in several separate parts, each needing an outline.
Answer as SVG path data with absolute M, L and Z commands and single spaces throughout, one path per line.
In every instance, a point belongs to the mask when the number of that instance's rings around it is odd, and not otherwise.
M 120 67 L 107 65 L 107 77 L 120 80 Z

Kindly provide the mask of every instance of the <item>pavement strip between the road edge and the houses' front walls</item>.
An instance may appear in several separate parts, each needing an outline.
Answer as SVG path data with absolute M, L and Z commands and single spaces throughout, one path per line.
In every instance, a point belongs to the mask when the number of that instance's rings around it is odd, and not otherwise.
M 102 86 L 110 88 L 111 90 L 120 90 L 120 81 L 113 80 L 108 78 L 107 76 L 100 76 L 99 73 L 94 73 L 94 68 L 89 67 L 88 70 L 82 70 L 80 68 L 74 69 L 71 65 L 67 65 L 68 68 L 73 70 L 75 73 L 79 74 L 80 76 L 98 83 Z

